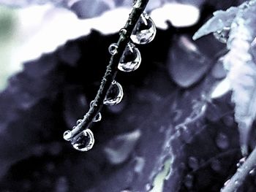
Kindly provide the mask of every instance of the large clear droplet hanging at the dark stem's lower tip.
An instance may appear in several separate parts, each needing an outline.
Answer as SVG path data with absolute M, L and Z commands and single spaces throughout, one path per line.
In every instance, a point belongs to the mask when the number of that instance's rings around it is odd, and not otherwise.
M 90 150 L 94 146 L 94 134 L 87 128 L 75 136 L 71 144 L 76 150 Z

